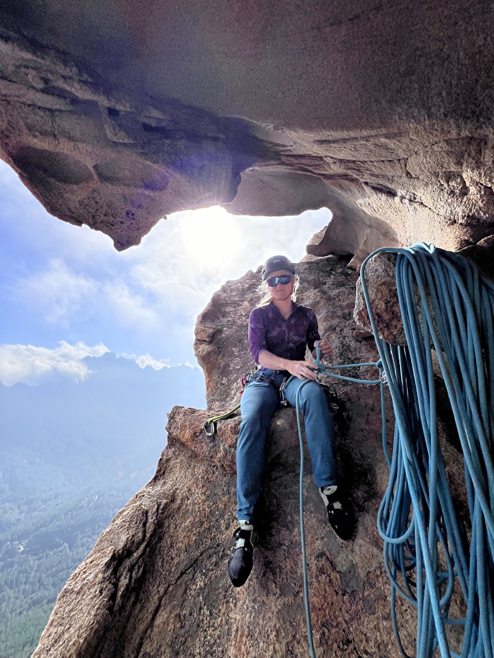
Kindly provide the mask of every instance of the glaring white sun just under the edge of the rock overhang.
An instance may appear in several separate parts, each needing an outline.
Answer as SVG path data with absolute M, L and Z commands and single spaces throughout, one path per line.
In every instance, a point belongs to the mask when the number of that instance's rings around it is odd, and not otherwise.
M 180 218 L 180 233 L 188 254 L 203 266 L 227 265 L 240 249 L 237 220 L 221 206 L 190 211 Z

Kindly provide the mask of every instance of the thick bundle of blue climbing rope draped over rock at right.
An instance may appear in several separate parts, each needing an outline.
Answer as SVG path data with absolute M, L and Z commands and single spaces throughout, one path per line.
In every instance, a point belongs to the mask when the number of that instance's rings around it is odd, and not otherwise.
M 397 254 L 397 288 L 406 347 L 379 339 L 365 280 L 376 253 Z M 420 243 L 377 249 L 363 263 L 362 288 L 395 411 L 389 484 L 377 527 L 396 595 L 416 607 L 418 658 L 494 656 L 494 284 L 458 254 Z M 416 292 L 417 290 L 417 292 Z M 421 322 L 422 320 L 422 322 Z M 464 455 L 472 522 L 470 545 L 455 509 L 437 428 L 431 345 L 445 382 Z M 453 591 L 466 615 L 451 614 Z M 457 613 L 455 613 L 457 615 Z M 450 649 L 449 624 L 463 626 L 462 649 Z

